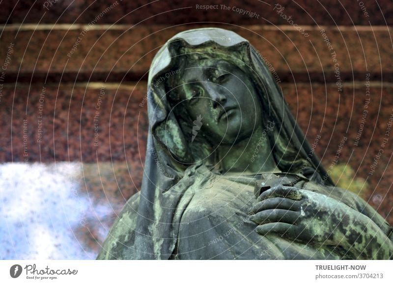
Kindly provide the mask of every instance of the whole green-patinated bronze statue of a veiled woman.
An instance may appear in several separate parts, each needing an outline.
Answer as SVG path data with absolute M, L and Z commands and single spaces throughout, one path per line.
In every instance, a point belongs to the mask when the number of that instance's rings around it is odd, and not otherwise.
M 389 259 L 392 227 L 335 187 L 250 43 L 171 38 L 148 80 L 142 188 L 98 259 Z

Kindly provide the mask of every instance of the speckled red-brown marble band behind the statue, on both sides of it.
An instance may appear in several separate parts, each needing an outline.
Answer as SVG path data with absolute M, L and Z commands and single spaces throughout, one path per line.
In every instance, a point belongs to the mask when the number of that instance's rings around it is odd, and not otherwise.
M 337 91 L 334 84 L 325 86 L 298 83 L 295 86 L 287 83 L 281 84 L 281 87 L 308 140 L 312 143 L 316 135 L 320 133 L 322 136 L 316 153 L 322 158 L 326 168 L 333 164 L 342 137 L 347 137 L 339 163 L 348 163 L 356 172 L 354 178 L 367 179 L 369 186 L 366 199 L 393 223 L 393 198 L 390 193 L 393 181 L 393 165 L 390 162 L 393 153 L 392 137 L 388 137 L 375 172 L 368 175 L 373 159 L 381 149 L 387 123 L 393 113 L 393 86 L 385 84 L 381 88 L 380 84 L 371 83 L 365 127 L 358 146 L 355 146 L 365 109 L 364 83 L 358 82 L 355 86 L 346 83 L 342 93 Z M 99 86 L 86 89 L 80 85 L 74 88 L 69 84 L 61 84 L 60 87 L 48 85 L 42 110 L 43 136 L 38 144 L 37 115 L 42 85 L 19 84 L 15 97 L 14 86 L 5 85 L 0 102 L 0 111 L 3 113 L 0 120 L 4 133 L 0 138 L 0 160 L 24 161 L 23 123 L 24 119 L 27 119 L 29 162 L 126 162 L 128 169 L 122 170 L 119 179 L 125 178 L 124 182 L 133 184 L 134 188 L 125 194 L 122 200 L 126 200 L 126 197 L 140 188 L 148 127 L 146 106 L 140 107 L 146 92 L 145 85 L 145 81 L 140 82 L 134 91 L 133 86 L 125 84 L 117 91 L 112 86 L 106 88 L 99 110 L 98 146 L 94 146 L 94 114 L 99 98 Z M 131 178 L 133 180 L 127 180 Z M 102 195 L 103 192 L 99 189 L 102 188 L 100 182 L 96 180 L 91 184 L 89 186 L 97 188 L 93 190 L 97 199 L 104 198 L 105 195 Z M 104 188 L 113 186 L 112 182 L 112 185 L 106 185 Z M 116 188 L 113 187 L 113 190 Z M 383 197 L 381 203 L 380 197 Z

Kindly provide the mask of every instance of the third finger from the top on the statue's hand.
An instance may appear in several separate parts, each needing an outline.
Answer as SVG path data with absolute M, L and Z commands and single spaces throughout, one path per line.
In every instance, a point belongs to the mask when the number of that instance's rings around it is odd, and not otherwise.
M 250 220 L 258 225 L 282 222 L 295 224 L 300 217 L 300 212 L 285 209 L 267 209 L 250 217 Z

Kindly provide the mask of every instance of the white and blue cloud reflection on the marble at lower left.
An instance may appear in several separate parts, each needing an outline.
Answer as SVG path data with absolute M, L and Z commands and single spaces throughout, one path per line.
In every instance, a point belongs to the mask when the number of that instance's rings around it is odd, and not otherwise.
M 82 176 L 75 162 L 0 164 L 1 259 L 96 257 L 78 230 L 113 210 L 89 199 Z M 101 238 L 108 233 L 103 226 L 99 231 Z

